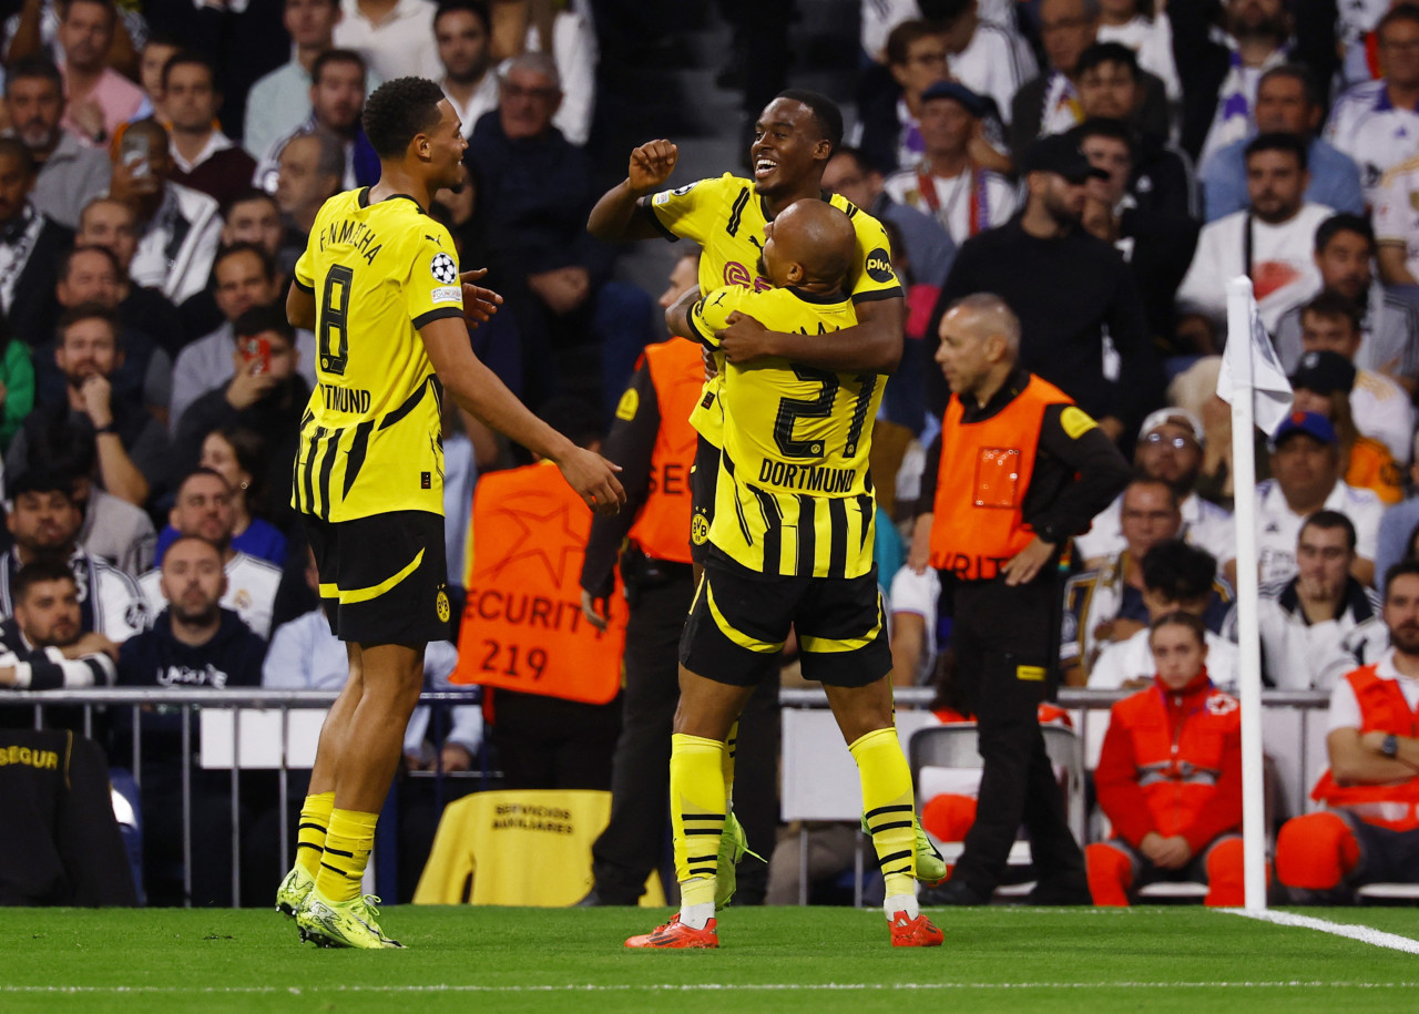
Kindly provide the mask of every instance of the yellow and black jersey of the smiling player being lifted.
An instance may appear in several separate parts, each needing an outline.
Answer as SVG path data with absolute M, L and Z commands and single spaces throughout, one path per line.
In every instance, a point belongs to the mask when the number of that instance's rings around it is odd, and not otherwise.
M 853 303 L 901 296 L 901 282 L 891 267 L 891 243 L 883 224 L 841 194 L 832 194 L 829 203 L 846 213 L 857 231 L 857 264 L 847 278 Z M 670 238 L 700 244 L 701 295 L 725 285 L 755 292 L 772 288 L 769 279 L 759 274 L 759 252 L 769 214 L 763 197 L 753 191 L 753 180 L 725 173 L 663 190 L 650 199 L 650 211 Z M 722 376 L 724 357 L 717 356 L 715 364 Z M 719 379 L 714 377 L 705 383 L 704 396 L 691 416 L 695 428 L 715 445 L 719 444 L 718 394 Z

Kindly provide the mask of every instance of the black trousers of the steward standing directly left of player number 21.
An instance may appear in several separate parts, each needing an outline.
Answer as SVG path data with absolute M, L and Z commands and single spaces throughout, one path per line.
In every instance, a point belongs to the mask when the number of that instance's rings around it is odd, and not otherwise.
M 677 569 L 664 584 L 637 587 L 626 620 L 626 689 L 612 760 L 612 817 L 592 845 L 596 893 L 609 905 L 634 905 L 666 851 L 680 631 L 694 593 L 690 567 Z

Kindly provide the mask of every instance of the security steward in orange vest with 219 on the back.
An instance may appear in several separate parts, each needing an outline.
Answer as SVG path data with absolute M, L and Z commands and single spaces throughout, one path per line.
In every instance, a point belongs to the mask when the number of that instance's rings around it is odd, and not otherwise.
M 578 447 L 599 450 L 596 408 L 570 397 L 538 413 Z M 481 684 L 507 789 L 612 784 L 620 733 L 626 613 L 582 614 L 578 574 L 592 511 L 551 461 L 488 472 L 473 492 L 473 563 L 450 682 Z

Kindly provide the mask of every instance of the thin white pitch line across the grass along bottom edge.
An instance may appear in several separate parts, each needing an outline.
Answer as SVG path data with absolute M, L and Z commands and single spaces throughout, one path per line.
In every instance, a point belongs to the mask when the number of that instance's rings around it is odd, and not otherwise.
M 6 986 L 4 993 L 54 994 L 271 994 L 271 993 L 763 993 L 786 990 L 880 993 L 900 990 L 1215 990 L 1215 988 L 1345 988 L 1345 990 L 1410 990 L 1412 983 L 1354 983 L 1354 981 L 1192 981 L 1192 983 L 648 983 L 634 984 L 551 984 L 551 986 L 474 986 L 474 984 L 414 984 L 414 986 Z

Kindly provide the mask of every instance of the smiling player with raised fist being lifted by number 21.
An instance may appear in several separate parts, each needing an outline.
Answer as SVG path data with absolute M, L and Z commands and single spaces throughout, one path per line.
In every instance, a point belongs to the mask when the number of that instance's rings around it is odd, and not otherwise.
M 626 180 L 612 187 L 592 208 L 587 228 L 606 241 L 687 238 L 700 244 L 700 292 L 725 285 L 745 291 L 769 288 L 758 269 L 766 230 L 783 208 L 799 200 L 829 201 L 851 220 L 854 254 L 847 271 L 847 291 L 856 322 L 829 335 L 803 335 L 766 326 L 748 311 L 731 313 L 715 350 L 717 373 L 705 383 L 691 417 L 701 434 L 691 496 L 692 546 L 704 563 L 714 484 L 722 438 L 719 391 L 724 363 L 748 363 L 775 356 L 793 363 L 841 373 L 887 374 L 902 355 L 907 321 L 901 284 L 891 268 L 891 245 L 881 223 L 840 194 L 823 190 L 823 170 L 843 139 L 843 113 L 832 99 L 810 91 L 790 89 L 765 106 L 749 149 L 753 179 L 725 173 L 718 179 L 656 190 L 675 169 L 678 149 L 668 140 L 651 140 L 630 153 Z M 871 417 L 867 418 L 871 427 Z M 735 739 L 731 729 L 729 740 Z M 725 760 L 725 794 L 734 798 L 734 750 Z M 734 862 L 744 852 L 744 830 L 731 813 L 719 859 L 719 902 L 734 892 Z M 946 865 L 917 825 L 917 876 L 935 884 Z

